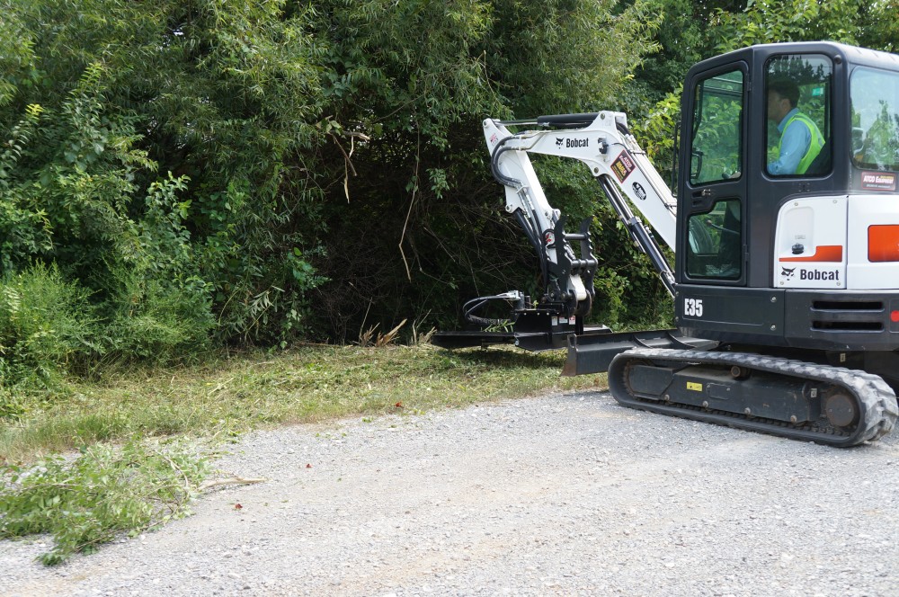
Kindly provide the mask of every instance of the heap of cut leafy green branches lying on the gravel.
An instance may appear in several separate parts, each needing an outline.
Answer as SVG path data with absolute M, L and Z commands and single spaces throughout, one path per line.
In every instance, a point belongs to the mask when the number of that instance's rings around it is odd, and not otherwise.
M 186 515 L 205 476 L 206 461 L 193 450 L 151 448 L 139 439 L 120 448 L 97 443 L 76 459 L 11 466 L 0 477 L 0 538 L 49 533 L 54 547 L 40 561 L 60 564 L 122 532 L 134 537 Z

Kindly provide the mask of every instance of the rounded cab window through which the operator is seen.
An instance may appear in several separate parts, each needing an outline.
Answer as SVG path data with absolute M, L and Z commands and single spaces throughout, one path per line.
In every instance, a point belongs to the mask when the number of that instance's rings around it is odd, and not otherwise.
M 770 176 L 830 174 L 833 67 L 823 54 L 771 58 L 765 69 Z

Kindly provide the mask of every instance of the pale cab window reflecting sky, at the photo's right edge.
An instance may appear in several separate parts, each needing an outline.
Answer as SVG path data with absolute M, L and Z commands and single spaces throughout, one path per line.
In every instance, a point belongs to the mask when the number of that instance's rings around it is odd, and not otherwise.
M 858 67 L 850 80 L 852 163 L 899 170 L 899 74 Z

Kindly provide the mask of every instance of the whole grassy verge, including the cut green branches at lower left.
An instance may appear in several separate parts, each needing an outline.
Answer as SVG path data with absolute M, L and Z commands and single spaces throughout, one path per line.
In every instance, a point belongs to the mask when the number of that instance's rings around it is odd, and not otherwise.
M 605 387 L 604 375 L 560 377 L 564 361 L 511 347 L 307 346 L 69 381 L 21 397 L 25 414 L 0 423 L 0 539 L 49 534 L 39 559 L 55 565 L 185 516 L 215 444 L 250 429 Z

